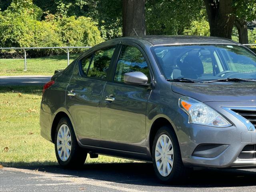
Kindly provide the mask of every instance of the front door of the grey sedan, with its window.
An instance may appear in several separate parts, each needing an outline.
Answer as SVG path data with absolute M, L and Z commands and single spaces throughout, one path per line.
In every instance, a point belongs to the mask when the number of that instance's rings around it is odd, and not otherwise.
M 123 45 L 113 75 L 101 101 L 101 139 L 107 148 L 146 152 L 146 108 L 149 89 L 124 83 L 124 74 L 140 71 L 148 76 L 148 64 L 135 46 Z

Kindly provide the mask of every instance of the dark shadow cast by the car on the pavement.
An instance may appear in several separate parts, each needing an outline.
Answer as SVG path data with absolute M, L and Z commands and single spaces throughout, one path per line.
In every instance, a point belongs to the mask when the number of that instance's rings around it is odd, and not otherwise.
M 63 169 L 60 166 L 28 166 L 20 167 L 29 170 L 64 174 L 67 177 L 83 177 L 102 181 L 145 185 L 166 186 L 158 182 L 150 163 L 106 163 L 84 164 L 79 169 Z M 60 177 L 64 177 L 60 175 Z M 256 169 L 205 169 L 192 171 L 181 184 L 173 187 L 208 188 L 256 185 Z

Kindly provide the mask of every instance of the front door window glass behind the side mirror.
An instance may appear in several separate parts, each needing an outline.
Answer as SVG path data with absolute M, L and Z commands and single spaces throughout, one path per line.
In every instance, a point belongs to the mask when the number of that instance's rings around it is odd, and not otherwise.
M 124 45 L 116 65 L 114 80 L 124 82 L 124 74 L 134 71 L 142 72 L 150 79 L 148 65 L 140 50 L 134 46 Z

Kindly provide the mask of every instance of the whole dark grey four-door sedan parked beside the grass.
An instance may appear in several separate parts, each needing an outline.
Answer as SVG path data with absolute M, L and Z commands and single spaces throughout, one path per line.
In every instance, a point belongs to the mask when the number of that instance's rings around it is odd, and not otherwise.
M 166 183 L 187 168 L 256 168 L 256 54 L 214 37 L 108 40 L 44 85 L 40 126 L 64 167 L 130 158 Z

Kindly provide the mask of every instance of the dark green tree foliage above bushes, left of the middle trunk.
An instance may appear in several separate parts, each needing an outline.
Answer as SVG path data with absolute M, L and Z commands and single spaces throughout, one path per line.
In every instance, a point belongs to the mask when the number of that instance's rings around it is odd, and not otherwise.
M 122 36 L 122 0 L 34 0 L 56 18 L 85 16 L 92 18 L 104 40 Z

